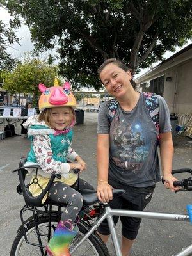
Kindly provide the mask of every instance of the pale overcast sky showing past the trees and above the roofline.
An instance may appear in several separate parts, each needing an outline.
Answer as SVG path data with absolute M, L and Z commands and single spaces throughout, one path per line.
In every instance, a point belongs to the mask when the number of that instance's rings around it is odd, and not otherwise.
M 7 12 L 7 10 L 5 10 L 4 8 L 0 7 L 0 20 L 2 20 L 5 24 L 8 24 L 9 20 L 10 20 L 10 15 Z M 21 28 L 18 29 L 17 31 L 17 36 L 20 39 L 20 45 L 15 44 L 12 47 L 9 47 L 7 49 L 7 52 L 9 54 L 12 54 L 13 58 L 19 58 L 22 59 L 22 56 L 24 54 L 24 52 L 28 52 L 28 51 L 32 51 L 33 50 L 33 43 L 31 42 L 31 35 L 29 32 L 29 28 L 25 25 L 22 25 Z M 190 40 L 188 42 L 188 44 L 184 45 L 184 47 L 186 47 L 187 45 L 191 44 L 192 40 Z M 182 48 L 184 48 L 182 47 Z M 176 51 L 178 52 L 180 51 L 180 49 L 182 49 L 180 47 L 176 47 Z M 47 51 L 44 54 L 44 58 L 48 57 L 50 53 L 52 53 L 53 51 Z M 175 52 L 169 52 L 167 51 L 163 57 L 164 58 L 169 58 L 170 56 L 172 56 L 173 54 L 175 54 Z M 160 63 L 161 61 L 159 61 Z M 155 63 L 153 65 L 156 66 L 159 63 Z M 149 68 L 145 68 L 143 70 L 141 70 L 141 72 L 139 74 L 137 74 L 134 78 L 141 76 L 141 74 L 144 74 L 145 72 L 147 72 L 149 70 Z

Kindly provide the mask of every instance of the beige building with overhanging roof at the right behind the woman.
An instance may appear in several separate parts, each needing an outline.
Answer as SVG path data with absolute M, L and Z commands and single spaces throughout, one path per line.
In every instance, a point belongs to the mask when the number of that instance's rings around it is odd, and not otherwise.
M 171 113 L 192 112 L 192 44 L 135 79 L 143 92 L 164 97 Z

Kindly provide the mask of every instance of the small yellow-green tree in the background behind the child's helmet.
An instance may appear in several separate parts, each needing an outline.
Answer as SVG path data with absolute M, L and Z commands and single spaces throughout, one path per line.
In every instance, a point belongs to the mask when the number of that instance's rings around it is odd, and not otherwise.
M 47 61 L 31 59 L 26 56 L 24 63 L 19 63 L 13 72 L 3 72 L 3 88 L 13 93 L 31 93 L 33 99 L 38 100 L 38 84 L 50 87 L 54 84 L 57 67 L 49 65 Z

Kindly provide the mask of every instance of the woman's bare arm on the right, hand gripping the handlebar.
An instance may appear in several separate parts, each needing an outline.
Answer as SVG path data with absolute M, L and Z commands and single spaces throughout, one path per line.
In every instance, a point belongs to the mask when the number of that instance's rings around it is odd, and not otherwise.
M 173 186 L 173 181 L 177 180 L 172 175 L 172 160 L 173 160 L 173 140 L 172 132 L 165 132 L 159 134 L 160 138 L 160 155 L 161 155 L 161 166 L 163 172 L 163 179 L 166 181 L 166 188 L 172 191 L 177 191 L 179 188 Z

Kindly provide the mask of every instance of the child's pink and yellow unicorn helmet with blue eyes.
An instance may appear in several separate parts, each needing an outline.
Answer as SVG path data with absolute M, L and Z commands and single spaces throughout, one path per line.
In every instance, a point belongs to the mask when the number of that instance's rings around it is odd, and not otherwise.
M 59 86 L 57 79 L 54 80 L 54 86 L 47 88 L 44 84 L 39 84 L 38 88 L 42 95 L 38 100 L 40 112 L 46 108 L 54 107 L 77 107 L 76 99 L 70 92 L 70 83 L 65 82 L 63 86 Z

